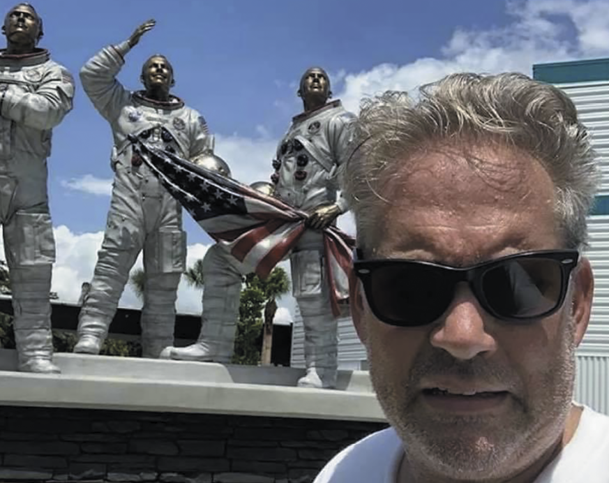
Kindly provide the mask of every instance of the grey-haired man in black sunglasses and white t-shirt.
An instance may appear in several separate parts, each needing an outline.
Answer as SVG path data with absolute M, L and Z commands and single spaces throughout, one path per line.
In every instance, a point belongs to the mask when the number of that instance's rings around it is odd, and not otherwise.
M 573 103 L 451 75 L 364 103 L 357 138 L 351 306 L 391 428 L 316 482 L 609 482 L 609 418 L 572 401 L 598 179 Z

